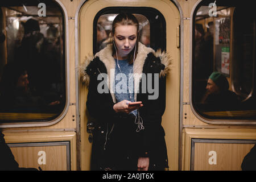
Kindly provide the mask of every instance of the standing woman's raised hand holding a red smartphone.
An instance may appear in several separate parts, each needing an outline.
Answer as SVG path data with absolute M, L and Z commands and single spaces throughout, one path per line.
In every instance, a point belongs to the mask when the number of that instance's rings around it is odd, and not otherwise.
M 122 100 L 122 101 L 118 102 L 117 104 L 115 104 L 113 106 L 113 109 L 115 110 L 116 113 L 129 114 L 131 111 L 133 111 L 135 109 L 139 109 L 139 107 L 143 106 L 141 101 L 139 101 L 138 104 L 135 104 L 135 105 L 129 105 L 129 103 L 133 103 L 133 102 L 127 101 L 127 100 Z

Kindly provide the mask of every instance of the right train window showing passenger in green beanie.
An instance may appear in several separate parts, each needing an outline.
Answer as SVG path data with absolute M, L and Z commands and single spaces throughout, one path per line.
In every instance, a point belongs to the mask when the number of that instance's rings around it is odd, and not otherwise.
M 201 1 L 193 14 L 192 104 L 207 119 L 256 119 L 255 10 Z

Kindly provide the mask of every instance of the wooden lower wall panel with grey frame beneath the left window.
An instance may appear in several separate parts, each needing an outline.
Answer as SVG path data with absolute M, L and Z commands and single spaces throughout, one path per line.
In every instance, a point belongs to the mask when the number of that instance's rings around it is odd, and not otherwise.
M 8 144 L 20 168 L 70 170 L 70 142 Z

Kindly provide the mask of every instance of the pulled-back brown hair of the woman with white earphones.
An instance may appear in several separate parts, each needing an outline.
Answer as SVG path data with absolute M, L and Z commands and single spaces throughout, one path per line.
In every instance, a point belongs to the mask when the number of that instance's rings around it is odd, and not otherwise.
M 114 42 L 114 33 L 115 33 L 115 27 L 120 26 L 120 25 L 133 25 L 137 27 L 137 40 L 136 44 L 133 48 L 133 50 L 129 53 L 128 55 L 128 62 L 129 64 L 133 63 L 133 60 L 135 60 L 137 53 L 138 53 L 138 43 L 139 43 L 139 22 L 137 18 L 133 14 L 127 14 L 127 13 L 121 13 L 118 14 L 112 24 L 112 36 L 113 36 L 113 42 Z M 135 51 L 135 57 L 134 56 L 134 49 L 136 48 Z M 113 55 L 115 54 L 115 47 L 112 45 L 112 53 Z

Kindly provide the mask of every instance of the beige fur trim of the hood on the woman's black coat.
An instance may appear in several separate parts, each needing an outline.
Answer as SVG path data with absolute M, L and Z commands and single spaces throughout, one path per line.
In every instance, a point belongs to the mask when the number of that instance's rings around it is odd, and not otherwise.
M 138 75 L 141 75 L 144 61 L 147 58 L 148 53 L 153 53 L 155 57 L 159 57 L 161 60 L 161 63 L 165 66 L 164 69 L 160 72 L 159 76 L 164 77 L 168 75 L 168 72 L 171 69 L 171 56 L 168 55 L 166 52 L 161 52 L 159 49 L 158 51 L 154 51 L 154 49 L 150 47 L 144 46 L 144 44 L 140 43 L 138 44 L 138 53 L 137 57 L 134 60 L 134 74 L 138 73 Z M 95 58 L 99 57 L 100 60 L 105 64 L 106 70 L 108 72 L 108 76 L 110 76 L 110 70 L 115 69 L 115 60 L 112 56 L 112 45 L 109 44 L 104 49 L 102 49 L 100 52 L 97 52 L 95 56 L 89 55 L 85 57 L 85 62 L 82 65 L 81 68 L 81 78 L 82 82 L 85 83 L 86 86 L 89 85 L 90 77 L 86 73 L 86 68 L 90 64 L 90 62 Z M 135 78 L 136 80 L 136 78 Z M 109 79 L 109 82 L 113 81 L 112 79 Z M 136 82 L 135 82 L 135 88 L 136 88 Z

